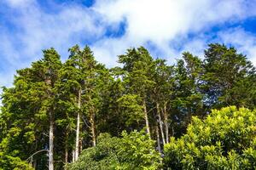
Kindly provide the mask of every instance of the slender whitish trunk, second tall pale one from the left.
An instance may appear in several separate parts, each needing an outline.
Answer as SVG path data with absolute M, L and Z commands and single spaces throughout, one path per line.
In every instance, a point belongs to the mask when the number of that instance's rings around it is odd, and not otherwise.
M 77 117 L 77 131 L 76 131 L 76 147 L 75 147 L 75 156 L 74 161 L 79 159 L 79 133 L 80 133 L 80 109 L 81 109 L 81 89 L 79 89 L 79 111 Z

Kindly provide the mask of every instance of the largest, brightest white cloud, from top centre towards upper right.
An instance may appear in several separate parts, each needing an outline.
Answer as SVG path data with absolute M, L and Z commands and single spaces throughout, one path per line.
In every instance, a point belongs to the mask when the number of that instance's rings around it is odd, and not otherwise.
M 247 6 L 241 0 L 119 0 L 97 1 L 94 9 L 109 23 L 127 20 L 126 34 L 154 42 L 168 41 L 189 31 L 199 31 L 207 25 L 221 23 L 231 17 L 247 16 Z

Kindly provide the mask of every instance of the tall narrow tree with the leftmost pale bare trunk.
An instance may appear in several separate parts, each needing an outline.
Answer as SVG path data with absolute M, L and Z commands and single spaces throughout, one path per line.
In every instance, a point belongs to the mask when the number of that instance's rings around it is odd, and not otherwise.
M 46 49 L 44 58 L 32 64 L 32 96 L 41 101 L 39 114 L 49 119 L 49 170 L 54 169 L 54 126 L 57 94 L 55 82 L 61 69 L 60 55 L 54 48 Z M 41 93 L 40 93 L 41 91 Z

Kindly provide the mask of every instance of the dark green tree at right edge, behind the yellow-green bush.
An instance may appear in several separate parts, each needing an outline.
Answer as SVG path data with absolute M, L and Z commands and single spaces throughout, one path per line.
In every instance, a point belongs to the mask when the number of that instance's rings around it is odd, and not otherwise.
M 255 107 L 255 67 L 236 48 L 218 43 L 205 50 L 201 89 L 209 108 L 226 105 Z

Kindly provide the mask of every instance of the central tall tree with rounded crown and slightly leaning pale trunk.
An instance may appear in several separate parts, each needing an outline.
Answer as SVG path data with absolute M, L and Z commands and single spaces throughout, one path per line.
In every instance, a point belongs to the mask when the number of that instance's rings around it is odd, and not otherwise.
M 148 50 L 141 48 L 131 48 L 124 55 L 119 55 L 119 63 L 123 64 L 125 88 L 128 94 L 136 94 L 141 99 L 143 105 L 144 120 L 147 133 L 150 136 L 148 120 L 148 92 L 154 85 L 152 78 L 154 62 Z

